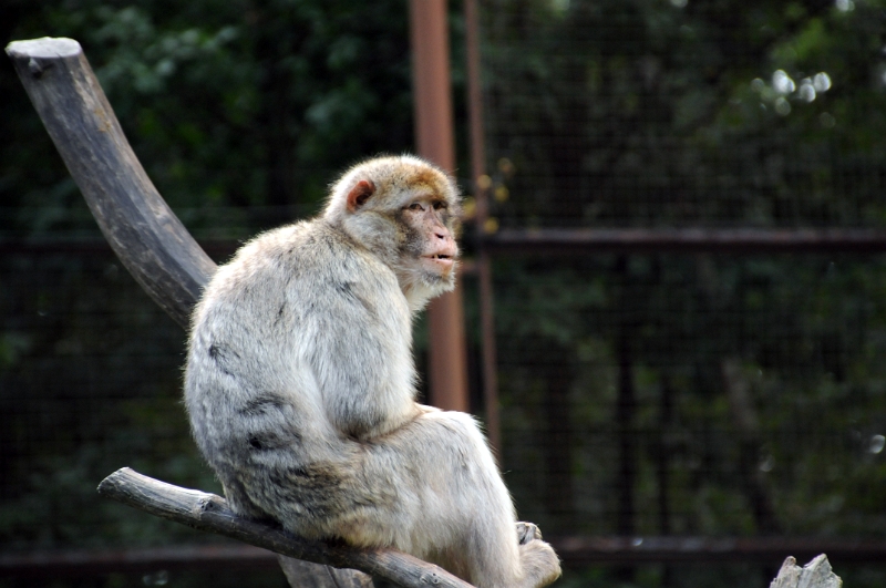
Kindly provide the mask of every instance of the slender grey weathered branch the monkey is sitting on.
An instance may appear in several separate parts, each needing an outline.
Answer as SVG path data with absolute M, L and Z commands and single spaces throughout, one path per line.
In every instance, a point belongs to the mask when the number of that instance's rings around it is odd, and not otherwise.
M 346 545 L 309 541 L 264 522 L 238 517 L 220 496 L 179 488 L 124 467 L 99 485 L 99 493 L 155 516 L 217 533 L 274 553 L 336 568 L 363 571 L 405 588 L 470 588 L 439 566 L 394 549 L 357 549 Z M 310 567 L 301 567 L 310 572 Z M 287 568 L 285 567 L 285 570 Z M 287 570 L 292 571 L 292 568 Z M 296 572 L 299 570 L 296 569 Z M 334 575 L 334 572 L 332 572 Z M 316 576 L 315 576 L 316 577 Z M 368 586 L 368 578 L 350 577 L 349 588 Z M 363 584 L 360 584 L 360 582 Z M 326 585 L 318 585 L 326 586 Z

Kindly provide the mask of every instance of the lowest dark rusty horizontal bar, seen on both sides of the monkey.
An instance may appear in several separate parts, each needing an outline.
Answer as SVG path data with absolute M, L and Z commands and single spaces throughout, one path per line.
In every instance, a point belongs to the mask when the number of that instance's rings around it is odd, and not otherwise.
M 780 565 L 827 554 L 832 564 L 886 564 L 886 541 L 817 537 L 552 537 L 567 566 L 589 564 Z M 247 545 L 178 545 L 145 549 L 38 550 L 0 554 L 0 577 L 90 576 L 172 569 L 274 569 L 275 554 Z

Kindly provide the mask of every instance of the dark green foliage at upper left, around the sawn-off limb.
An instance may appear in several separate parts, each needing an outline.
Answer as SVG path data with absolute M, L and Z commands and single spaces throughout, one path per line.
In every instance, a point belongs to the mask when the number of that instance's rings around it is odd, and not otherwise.
M 148 175 L 198 235 L 245 237 L 308 214 L 342 167 L 411 147 L 398 1 L 70 0 L 21 11 L 11 39 L 81 42 Z M 2 83 L 3 111 L 19 114 L 3 134 L 21 138 L 0 152 L 0 230 L 91 228 L 84 215 L 70 226 L 82 205 L 9 63 Z M 51 167 L 27 164 L 40 159 Z

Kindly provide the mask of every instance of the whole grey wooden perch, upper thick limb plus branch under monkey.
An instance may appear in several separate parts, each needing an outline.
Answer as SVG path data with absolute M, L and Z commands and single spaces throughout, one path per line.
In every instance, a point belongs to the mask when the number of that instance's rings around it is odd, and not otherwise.
M 187 328 L 216 265 L 145 174 L 80 43 L 45 38 L 16 41 L 6 51 L 114 252 L 151 298 Z M 112 474 L 100 492 L 196 528 L 322 564 L 281 557 L 293 587 L 372 586 L 363 574 L 329 566 L 362 569 L 402 586 L 470 586 L 399 551 L 300 541 L 268 525 L 237 518 L 218 496 L 169 486 L 135 472 Z

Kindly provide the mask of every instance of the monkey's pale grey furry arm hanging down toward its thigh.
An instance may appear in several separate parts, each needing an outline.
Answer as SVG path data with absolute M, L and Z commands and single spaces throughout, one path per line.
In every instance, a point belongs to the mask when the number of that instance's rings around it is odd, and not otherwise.
M 298 354 L 339 431 L 359 439 L 390 433 L 419 413 L 412 319 L 396 278 L 369 256 L 329 262 L 318 274 L 291 286 L 293 306 L 306 309 Z

